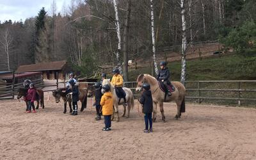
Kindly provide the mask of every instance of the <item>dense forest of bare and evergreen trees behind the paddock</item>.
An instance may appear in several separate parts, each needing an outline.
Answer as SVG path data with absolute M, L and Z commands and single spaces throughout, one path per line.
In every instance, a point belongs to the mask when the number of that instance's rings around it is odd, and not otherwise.
M 72 0 L 56 13 L 52 1 L 48 12 L 0 22 L 0 67 L 67 60 L 82 76 L 118 66 L 127 81 L 128 60 L 156 66 L 162 47 L 177 46 L 182 63 L 189 45 L 209 40 L 255 56 L 255 11 L 255 0 Z

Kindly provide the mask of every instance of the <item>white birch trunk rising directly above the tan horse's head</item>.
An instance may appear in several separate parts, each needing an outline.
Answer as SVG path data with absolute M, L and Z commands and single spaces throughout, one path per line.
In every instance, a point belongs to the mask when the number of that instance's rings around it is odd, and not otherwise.
M 156 75 L 158 74 L 157 62 L 156 62 L 156 38 L 155 38 L 155 29 L 154 29 L 154 6 L 153 0 L 150 0 L 150 11 L 151 11 L 151 34 L 152 34 L 152 51 L 153 51 L 153 60 L 154 68 Z

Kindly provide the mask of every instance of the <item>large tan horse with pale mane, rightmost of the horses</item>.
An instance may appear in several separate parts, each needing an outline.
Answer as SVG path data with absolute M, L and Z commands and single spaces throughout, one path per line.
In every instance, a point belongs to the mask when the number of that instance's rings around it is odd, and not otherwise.
M 152 98 L 154 101 L 154 113 L 153 113 L 153 122 L 156 122 L 156 112 L 157 112 L 157 104 L 159 104 L 160 111 L 162 113 L 162 120 L 165 122 L 165 116 L 164 116 L 164 108 L 163 108 L 163 102 L 164 102 L 164 92 L 161 91 L 159 88 L 158 81 L 155 77 L 150 76 L 149 74 L 140 74 L 137 78 L 137 87 L 136 91 L 140 92 L 142 89 L 143 83 L 150 84 L 151 92 L 152 92 Z M 184 85 L 180 82 L 173 81 L 173 86 L 175 87 L 175 91 L 172 92 L 172 96 L 166 97 L 166 102 L 175 101 L 177 104 L 177 114 L 175 115 L 175 118 L 178 119 L 181 116 L 182 112 L 185 112 L 185 95 L 186 95 L 186 88 Z

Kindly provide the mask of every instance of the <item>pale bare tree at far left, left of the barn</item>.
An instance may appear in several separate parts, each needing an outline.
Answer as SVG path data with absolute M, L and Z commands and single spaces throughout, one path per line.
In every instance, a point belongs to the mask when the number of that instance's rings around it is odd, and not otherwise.
M 10 32 L 8 29 L 5 29 L 2 35 L 2 38 L 0 40 L 0 43 L 4 47 L 4 52 L 6 53 L 7 56 L 7 66 L 8 66 L 8 71 L 10 71 L 10 45 L 12 44 L 12 35 L 10 35 Z

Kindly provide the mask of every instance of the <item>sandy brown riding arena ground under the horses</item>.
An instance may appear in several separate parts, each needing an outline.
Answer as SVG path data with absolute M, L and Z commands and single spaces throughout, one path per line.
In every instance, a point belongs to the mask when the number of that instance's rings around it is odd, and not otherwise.
M 0 159 L 256 159 L 256 109 L 187 104 L 174 120 L 175 105 L 165 104 L 167 122 L 158 113 L 147 134 L 137 100 L 131 118 L 109 132 L 94 120 L 90 99 L 78 116 L 63 114 L 51 96 L 37 113 L 24 106 L 0 100 Z

